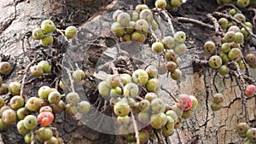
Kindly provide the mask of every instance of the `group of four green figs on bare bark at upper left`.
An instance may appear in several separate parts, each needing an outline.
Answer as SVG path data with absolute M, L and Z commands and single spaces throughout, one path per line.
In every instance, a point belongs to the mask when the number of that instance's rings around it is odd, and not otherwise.
M 55 31 L 55 23 L 52 20 L 43 20 L 40 28 L 35 28 L 32 31 L 32 37 L 36 40 L 40 40 L 41 45 L 47 47 L 54 42 L 52 32 Z M 66 30 L 63 32 L 67 38 L 73 38 L 77 34 L 77 28 L 75 26 L 67 26 Z

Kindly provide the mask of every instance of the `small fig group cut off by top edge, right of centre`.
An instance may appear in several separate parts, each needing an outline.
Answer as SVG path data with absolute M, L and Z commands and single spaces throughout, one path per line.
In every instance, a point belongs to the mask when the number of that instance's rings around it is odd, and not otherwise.
M 172 10 L 173 8 L 180 7 L 183 4 L 183 0 L 154 0 L 155 8 Z

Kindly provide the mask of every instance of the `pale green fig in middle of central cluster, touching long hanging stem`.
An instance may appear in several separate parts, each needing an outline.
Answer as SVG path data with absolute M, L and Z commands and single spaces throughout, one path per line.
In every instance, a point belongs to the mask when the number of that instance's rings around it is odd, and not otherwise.
M 134 83 L 128 83 L 124 87 L 124 95 L 126 97 L 135 97 L 139 93 L 139 89 L 137 87 L 137 84 Z

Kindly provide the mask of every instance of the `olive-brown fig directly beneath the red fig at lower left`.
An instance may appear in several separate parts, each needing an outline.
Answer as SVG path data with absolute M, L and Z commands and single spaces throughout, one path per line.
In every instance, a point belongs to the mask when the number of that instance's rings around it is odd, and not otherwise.
M 53 136 L 53 132 L 48 127 L 42 127 L 37 131 L 36 135 L 39 141 L 49 141 Z

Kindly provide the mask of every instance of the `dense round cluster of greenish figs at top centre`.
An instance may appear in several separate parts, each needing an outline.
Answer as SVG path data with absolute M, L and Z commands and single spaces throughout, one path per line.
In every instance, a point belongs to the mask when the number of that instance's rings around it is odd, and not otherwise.
M 120 37 L 121 42 L 144 43 L 150 34 L 149 29 L 158 29 L 154 15 L 146 4 L 138 4 L 135 10 L 127 13 L 116 10 L 113 13 L 113 21 L 111 31 Z

